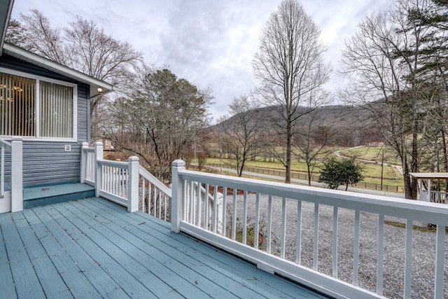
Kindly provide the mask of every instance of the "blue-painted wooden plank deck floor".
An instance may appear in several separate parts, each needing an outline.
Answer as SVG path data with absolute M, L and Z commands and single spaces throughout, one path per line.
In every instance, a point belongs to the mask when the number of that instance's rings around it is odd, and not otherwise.
M 100 198 L 0 214 L 1 298 L 325 298 Z

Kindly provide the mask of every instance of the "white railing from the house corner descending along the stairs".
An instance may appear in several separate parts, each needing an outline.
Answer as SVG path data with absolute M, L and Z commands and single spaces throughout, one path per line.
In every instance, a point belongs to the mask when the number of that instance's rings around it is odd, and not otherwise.
M 127 162 L 104 160 L 102 142 L 97 142 L 94 148 L 89 148 L 87 143 L 83 143 L 80 181 L 94 186 L 96 196 L 128 207 L 130 211 L 138 209 L 165 221 L 170 221 L 171 188 L 165 186 L 153 174 L 141 167 L 137 157 L 131 157 Z M 206 192 L 204 186 L 197 183 L 192 183 L 187 188 L 188 194 L 192 198 L 199 198 L 204 207 L 209 207 L 207 208 L 209 217 L 203 218 L 204 223 L 213 222 L 211 216 L 215 210 L 218 215 L 222 215 L 222 195 L 212 196 Z M 134 204 L 134 206 L 130 208 L 130 204 Z M 218 216 L 216 231 L 221 232 L 222 228 L 222 216 Z

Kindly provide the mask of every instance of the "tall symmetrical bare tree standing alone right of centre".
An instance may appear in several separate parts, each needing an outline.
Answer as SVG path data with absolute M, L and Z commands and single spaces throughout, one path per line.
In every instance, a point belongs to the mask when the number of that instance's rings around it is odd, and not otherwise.
M 330 65 L 323 62 L 326 48 L 319 35 L 302 5 L 285 0 L 270 16 L 253 59 L 253 73 L 260 83 L 256 92 L 262 103 L 276 112 L 277 134 L 286 143 L 286 183 L 291 176 L 294 125 L 326 100 L 315 96 L 330 74 Z

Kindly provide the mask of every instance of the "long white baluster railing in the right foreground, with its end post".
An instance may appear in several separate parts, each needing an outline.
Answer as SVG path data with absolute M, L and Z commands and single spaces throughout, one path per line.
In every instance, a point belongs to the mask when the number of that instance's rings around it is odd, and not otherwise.
M 404 264 L 402 297 L 411 298 L 413 223 L 414 221 L 432 223 L 437 225 L 433 253 L 435 283 L 433 287 L 425 287 L 432 289 L 433 295 L 429 295 L 430 297 L 443 298 L 445 228 L 448 226 L 446 205 L 204 174 L 188 171 L 184 165 L 185 162 L 182 160 L 173 162 L 172 230 L 174 232 L 186 232 L 250 260 L 268 272 L 281 274 L 336 298 L 383 298 L 384 277 L 400 275 L 395 272 L 395 269 L 389 270 L 385 266 L 390 264 L 388 264 L 388 255 L 384 254 L 385 243 L 388 242 L 388 239 L 384 237 L 384 220 L 385 217 L 401 218 L 405 223 L 404 261 L 395 261 L 395 265 L 396 263 Z M 214 190 L 215 195 L 217 190 L 223 190 L 225 208 L 221 210 L 224 222 L 221 233 L 216 230 L 218 215 L 212 215 L 211 225 L 207 225 L 207 221 L 200 220 L 202 214 L 200 209 L 203 206 L 189 193 L 188 186 L 192 183 L 206 185 L 206 190 Z M 204 209 L 207 214 L 208 207 Z M 328 209 L 330 209 L 329 213 L 322 213 L 320 216 L 321 211 L 328 211 Z M 339 223 L 340 215 L 345 215 L 347 211 L 353 215 L 351 222 Z M 248 214 L 253 218 L 248 219 Z M 312 216 L 304 217 L 305 214 Z M 360 253 L 366 250 L 360 246 L 363 234 L 363 230 L 360 229 L 363 224 L 360 218 L 363 218 L 365 214 L 373 215 L 372 218 L 376 223 L 376 233 L 373 236 L 376 242 L 364 245 L 376 246 L 376 258 L 373 257 L 376 260 L 374 263 L 377 264 L 376 273 L 372 274 L 374 276 L 372 284 L 376 286 L 373 290 L 360 287 L 360 280 L 367 275 L 360 272 L 362 261 Z M 265 223 L 261 221 L 263 216 L 265 216 Z M 302 219 L 305 220 L 305 218 L 307 221 L 311 219 L 311 223 L 302 223 Z M 319 223 L 323 221 L 329 227 L 325 226 L 326 235 L 328 235 L 326 238 L 323 238 L 322 235 L 325 234 L 319 231 Z M 263 230 L 262 226 L 265 226 Z M 250 237 L 248 232 L 251 232 L 249 227 L 253 229 L 252 246 L 248 246 Z M 275 232 L 274 228 L 276 228 Z M 353 242 L 340 244 L 338 230 L 341 231 L 339 234 L 347 234 L 349 231 Z M 262 232 L 261 235 L 260 232 Z M 309 247 L 302 244 L 305 232 L 312 239 Z M 287 250 L 287 246 L 290 245 L 288 240 L 293 240 L 292 253 L 290 247 Z M 260 242 L 263 243 L 262 246 Z M 319 253 L 318 249 L 322 243 L 332 244 L 329 246 L 330 252 Z M 340 263 L 344 265 L 338 263 L 338 246 L 341 245 L 349 246 L 342 250 L 351 251 L 353 254 L 352 265 L 346 265 L 346 261 Z M 307 266 L 301 258 L 307 254 L 310 256 L 308 262 L 311 260 L 312 265 Z M 319 272 L 318 264 L 321 263 L 322 256 L 331 257 L 330 273 Z M 351 271 L 351 281 L 342 281 L 339 278 L 339 273 L 342 271 L 338 272 L 338 270 L 345 267 L 344 270 L 347 271 L 347 266 Z M 387 273 L 385 269 L 388 270 Z

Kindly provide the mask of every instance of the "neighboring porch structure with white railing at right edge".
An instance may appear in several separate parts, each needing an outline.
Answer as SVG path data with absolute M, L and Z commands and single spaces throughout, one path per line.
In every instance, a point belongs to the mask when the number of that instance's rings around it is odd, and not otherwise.
M 440 204 L 448 204 L 447 192 L 431 190 L 431 182 L 433 180 L 448 181 L 448 172 L 411 172 L 409 174 L 419 181 L 418 200 L 421 200 L 423 202 L 437 202 Z M 423 181 L 425 180 L 426 188 L 424 188 L 423 186 Z

